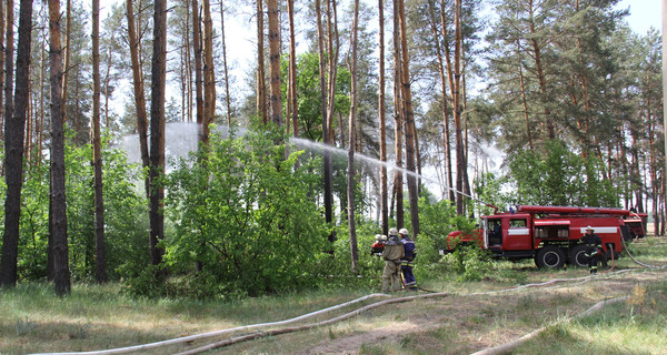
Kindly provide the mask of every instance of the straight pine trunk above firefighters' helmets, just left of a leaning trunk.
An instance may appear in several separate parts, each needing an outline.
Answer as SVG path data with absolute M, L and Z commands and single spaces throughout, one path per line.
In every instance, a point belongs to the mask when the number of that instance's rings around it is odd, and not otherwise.
M 401 54 L 400 54 L 400 14 L 398 0 L 394 0 L 394 136 L 396 149 L 396 166 L 394 171 L 394 193 L 396 200 L 396 227 L 402 229 L 405 224 L 404 190 L 402 190 L 402 138 L 404 138 L 404 108 L 401 100 Z

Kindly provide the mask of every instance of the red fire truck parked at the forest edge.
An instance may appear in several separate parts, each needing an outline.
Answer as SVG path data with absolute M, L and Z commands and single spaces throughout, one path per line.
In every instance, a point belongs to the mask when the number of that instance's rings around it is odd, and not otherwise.
M 587 266 L 579 239 L 588 226 L 603 240 L 606 263 L 623 251 L 621 237 L 644 235 L 645 221 L 645 214 L 620 209 L 519 205 L 482 216 L 479 230 L 471 234 L 449 233 L 445 252 L 458 243 L 477 243 L 496 257 L 535 258 L 538 267 Z

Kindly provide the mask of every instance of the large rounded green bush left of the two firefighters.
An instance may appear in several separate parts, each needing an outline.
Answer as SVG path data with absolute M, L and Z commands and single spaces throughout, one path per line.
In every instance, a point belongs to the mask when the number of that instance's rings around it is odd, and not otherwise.
M 309 186 L 319 176 L 301 152 L 286 155 L 278 129 L 238 139 L 213 136 L 167 176 L 166 211 L 175 235 L 165 261 L 177 274 L 199 266 L 207 283 L 250 295 L 315 286 L 327 256 L 327 227 Z

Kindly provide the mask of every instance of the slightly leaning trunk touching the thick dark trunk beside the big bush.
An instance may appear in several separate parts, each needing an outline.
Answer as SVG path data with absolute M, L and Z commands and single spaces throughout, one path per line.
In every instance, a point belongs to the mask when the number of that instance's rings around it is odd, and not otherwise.
M 130 45 L 130 59 L 132 63 L 132 82 L 135 90 L 135 110 L 137 110 L 137 133 L 139 135 L 139 149 L 141 150 L 141 163 L 143 169 L 150 165 L 148 153 L 148 114 L 146 112 L 146 94 L 143 92 L 143 75 L 141 74 L 141 43 L 137 36 L 135 22 L 135 9 L 132 0 L 126 0 L 126 16 L 128 19 L 128 42 Z M 143 182 L 146 196 L 150 195 L 150 176 Z

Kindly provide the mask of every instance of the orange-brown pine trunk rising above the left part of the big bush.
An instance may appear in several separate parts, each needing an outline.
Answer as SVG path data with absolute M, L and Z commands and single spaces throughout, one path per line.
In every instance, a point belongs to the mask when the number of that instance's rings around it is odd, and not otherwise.
M 203 8 L 203 124 L 202 142 L 208 145 L 209 130 L 216 118 L 216 71 L 213 64 L 213 21 L 210 0 L 202 0 Z

